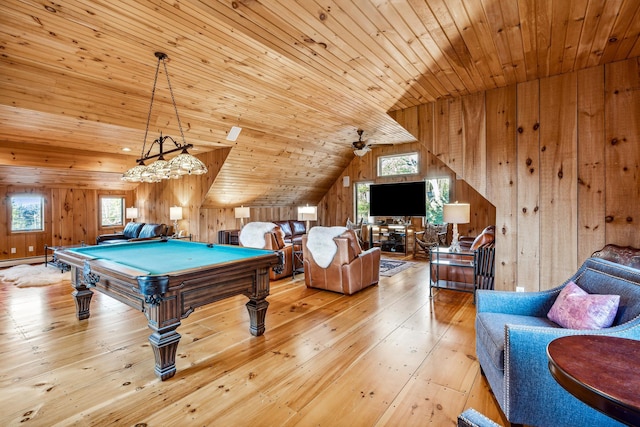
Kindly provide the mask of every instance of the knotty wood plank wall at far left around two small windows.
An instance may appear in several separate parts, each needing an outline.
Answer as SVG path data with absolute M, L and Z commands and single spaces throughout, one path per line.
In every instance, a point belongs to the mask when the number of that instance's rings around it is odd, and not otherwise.
M 45 229 L 43 232 L 10 232 L 10 196 L 39 194 L 44 197 Z M 44 245 L 95 244 L 102 233 L 122 230 L 122 227 L 101 229 L 99 226 L 100 196 L 122 196 L 127 206 L 134 200 L 133 191 L 107 191 L 78 188 L 42 188 L 0 186 L 0 259 L 18 259 L 44 255 Z M 29 251 L 33 246 L 33 251 Z M 11 253 L 16 248 L 16 253 Z

